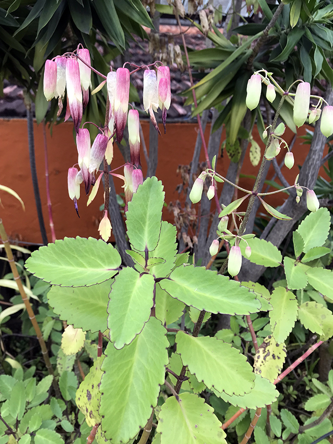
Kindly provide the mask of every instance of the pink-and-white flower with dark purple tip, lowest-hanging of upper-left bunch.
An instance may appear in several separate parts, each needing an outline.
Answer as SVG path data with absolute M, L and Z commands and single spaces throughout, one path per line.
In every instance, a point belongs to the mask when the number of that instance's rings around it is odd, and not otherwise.
M 80 68 L 77 59 L 68 59 L 66 63 L 67 98 L 74 121 L 75 131 L 78 132 L 83 114 Z

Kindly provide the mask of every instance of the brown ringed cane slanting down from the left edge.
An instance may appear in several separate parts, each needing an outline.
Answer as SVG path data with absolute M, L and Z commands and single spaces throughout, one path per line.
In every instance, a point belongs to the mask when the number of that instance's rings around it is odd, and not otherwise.
M 51 375 L 53 375 L 53 386 L 54 386 L 56 395 L 58 397 L 60 397 L 59 386 L 58 386 L 58 382 L 57 382 L 56 378 L 54 377 L 54 371 L 53 371 L 53 368 L 52 368 L 52 365 L 51 365 L 51 362 L 50 362 L 49 352 L 48 352 L 48 349 L 46 347 L 46 344 L 45 344 L 45 341 L 44 341 L 41 329 L 40 329 L 40 327 L 38 325 L 38 322 L 36 320 L 34 310 L 33 310 L 32 306 L 31 306 L 31 304 L 29 302 L 29 299 L 28 299 L 27 294 L 25 292 L 25 289 L 23 287 L 23 283 L 21 281 L 21 278 L 20 278 L 17 266 L 15 264 L 15 260 L 14 260 L 14 256 L 13 256 L 13 252 L 12 252 L 12 248 L 11 248 L 11 244 L 9 242 L 9 239 L 8 239 L 8 236 L 7 236 L 7 233 L 6 233 L 6 230 L 5 230 L 5 227 L 4 227 L 2 219 L 0 219 L 0 236 L 2 237 L 3 243 L 5 245 L 5 250 L 6 250 L 7 257 L 8 257 L 8 261 L 9 261 L 9 264 L 11 266 L 15 282 L 17 283 L 17 285 L 19 287 L 19 291 L 20 291 L 20 294 L 22 296 L 22 300 L 23 300 L 23 302 L 24 302 L 24 304 L 26 306 L 26 309 L 27 309 L 27 312 L 28 312 L 28 315 L 29 315 L 29 319 L 31 320 L 31 323 L 33 324 L 33 327 L 34 327 L 34 329 L 36 331 L 37 339 L 38 339 L 38 341 L 40 343 L 40 346 L 41 346 L 41 349 L 42 349 L 42 354 L 43 354 L 43 358 L 44 358 L 44 362 L 45 362 L 46 368 L 48 369 L 48 372 Z

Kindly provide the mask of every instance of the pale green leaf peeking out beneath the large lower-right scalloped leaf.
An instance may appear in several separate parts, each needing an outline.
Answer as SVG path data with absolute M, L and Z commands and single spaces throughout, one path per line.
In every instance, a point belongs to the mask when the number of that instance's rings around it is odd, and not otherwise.
M 275 402 L 279 395 L 275 385 L 259 374 L 255 374 L 254 376 L 254 387 L 249 393 L 245 393 L 242 396 L 236 396 L 234 394 L 229 396 L 226 393 L 219 393 L 217 390 L 214 390 L 214 393 L 216 396 L 221 397 L 225 402 L 229 402 L 230 404 L 237 405 L 237 407 L 241 408 L 265 407 L 266 405 Z

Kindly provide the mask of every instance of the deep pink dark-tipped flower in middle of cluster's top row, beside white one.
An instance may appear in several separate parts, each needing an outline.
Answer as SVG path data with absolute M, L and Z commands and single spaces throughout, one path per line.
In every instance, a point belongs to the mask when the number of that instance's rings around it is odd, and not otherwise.
M 128 101 L 130 96 L 130 72 L 127 68 L 118 68 L 115 89 L 115 125 L 117 142 L 123 139 L 127 120 Z M 112 131 L 112 130 L 111 130 Z

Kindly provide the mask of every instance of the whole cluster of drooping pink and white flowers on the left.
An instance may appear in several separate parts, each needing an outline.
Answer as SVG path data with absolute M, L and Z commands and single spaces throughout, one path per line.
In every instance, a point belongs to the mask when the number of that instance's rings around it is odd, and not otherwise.
M 136 72 L 144 69 L 143 74 L 143 106 L 144 110 L 150 114 L 150 119 L 158 131 L 154 112 L 158 108 L 162 110 L 162 123 L 166 125 L 167 110 L 171 104 L 171 82 L 170 71 L 166 66 L 158 66 L 161 62 L 156 62 L 149 66 L 135 67 Z M 125 64 L 126 65 L 126 64 Z M 107 84 L 108 103 L 106 125 L 99 128 L 98 134 L 91 146 L 90 134 L 87 128 L 80 128 L 83 113 L 89 101 L 89 88 L 91 87 L 91 61 L 87 49 L 81 48 L 73 53 L 66 53 L 63 56 L 57 56 L 53 60 L 47 60 L 44 71 L 44 95 L 48 101 L 58 98 L 60 115 L 63 109 L 63 98 L 67 91 L 67 108 L 65 121 L 72 116 L 76 131 L 76 144 L 78 149 L 79 170 L 74 166 L 68 170 L 68 191 L 70 198 L 74 201 L 75 209 L 78 212 L 78 199 L 80 197 L 80 184 L 83 182 L 85 192 L 88 194 L 87 205 L 95 198 L 103 174 L 109 174 L 107 170 L 101 172 L 96 179 L 95 175 L 99 171 L 103 159 L 110 165 L 113 159 L 113 141 L 120 143 L 124 136 L 126 123 L 128 123 L 129 145 L 131 161 L 124 166 L 124 175 L 110 172 L 115 177 L 124 181 L 125 193 L 125 211 L 127 204 L 132 199 L 133 193 L 137 191 L 140 184 L 143 183 L 143 175 L 140 162 L 140 121 L 137 110 L 128 111 L 129 93 L 130 93 L 130 75 L 129 69 L 118 68 L 117 71 L 111 71 L 107 77 L 94 70 L 105 80 L 95 90 L 100 90 L 104 84 Z M 153 67 L 151 69 L 150 67 Z M 155 69 L 156 71 L 155 71 Z M 86 122 L 92 123 L 92 122 Z M 95 185 L 96 184 L 96 185 Z M 93 188 L 91 189 L 91 187 Z M 107 204 L 99 231 L 102 239 L 107 241 L 111 235 L 111 222 L 108 218 Z

